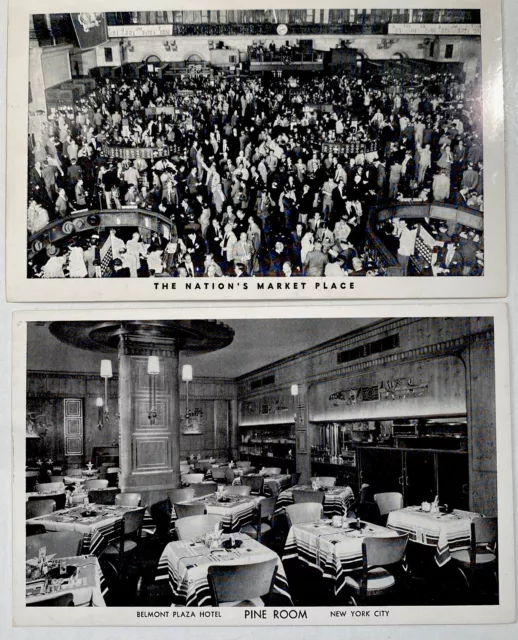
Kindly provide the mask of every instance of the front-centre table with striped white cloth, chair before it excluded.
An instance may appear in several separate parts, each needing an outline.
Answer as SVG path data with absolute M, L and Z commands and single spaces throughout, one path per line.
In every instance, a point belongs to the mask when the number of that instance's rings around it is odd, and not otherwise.
M 241 546 L 235 549 L 210 549 L 205 544 L 204 536 L 170 542 L 165 547 L 158 562 L 155 582 L 168 582 L 172 593 L 172 606 L 212 606 L 208 580 L 208 570 L 212 565 L 239 566 L 275 558 L 277 572 L 272 591 L 279 606 L 292 607 L 286 574 L 279 556 L 244 533 L 232 535 L 234 540 L 241 541 Z M 223 535 L 223 540 L 229 538 L 229 535 Z

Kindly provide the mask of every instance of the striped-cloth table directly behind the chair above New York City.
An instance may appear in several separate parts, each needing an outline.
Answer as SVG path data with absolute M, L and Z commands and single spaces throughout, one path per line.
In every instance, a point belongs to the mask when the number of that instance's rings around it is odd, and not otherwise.
M 344 519 L 345 526 L 334 527 L 328 519 L 294 524 L 288 533 L 282 559 L 298 560 L 316 569 L 323 578 L 332 581 L 335 595 L 345 585 L 348 574 L 362 568 L 362 544 L 365 538 L 395 537 L 398 534 L 386 527 Z M 353 528 L 354 527 L 354 528 Z

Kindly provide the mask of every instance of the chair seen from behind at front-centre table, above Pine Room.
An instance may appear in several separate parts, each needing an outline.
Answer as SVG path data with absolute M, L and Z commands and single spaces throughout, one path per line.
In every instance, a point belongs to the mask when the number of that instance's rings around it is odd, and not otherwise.
M 277 558 L 242 565 L 212 565 L 208 569 L 214 607 L 263 607 L 262 597 L 273 587 Z

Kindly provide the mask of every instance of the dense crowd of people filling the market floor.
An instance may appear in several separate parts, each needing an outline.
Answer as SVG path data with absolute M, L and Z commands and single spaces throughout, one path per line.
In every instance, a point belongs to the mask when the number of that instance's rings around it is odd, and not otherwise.
M 134 157 L 110 158 L 114 146 Z M 29 238 L 76 211 L 125 207 L 171 231 L 112 229 L 106 270 L 106 238 L 71 234 L 31 258 L 29 277 L 386 275 L 366 246 L 372 207 L 483 211 L 478 87 L 449 73 L 102 79 L 33 118 L 30 147 Z M 392 235 L 406 274 L 411 238 L 397 219 Z M 436 272 L 480 272 L 480 234 L 449 224 L 439 236 Z

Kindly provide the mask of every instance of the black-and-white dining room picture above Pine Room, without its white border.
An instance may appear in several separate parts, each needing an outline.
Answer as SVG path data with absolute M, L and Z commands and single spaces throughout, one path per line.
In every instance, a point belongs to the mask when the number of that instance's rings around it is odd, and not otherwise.
M 499 604 L 493 317 L 126 314 L 26 323 L 25 606 Z

